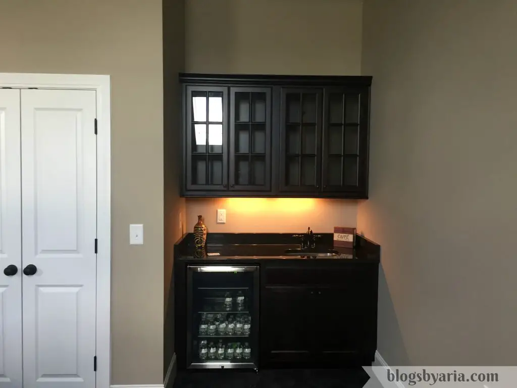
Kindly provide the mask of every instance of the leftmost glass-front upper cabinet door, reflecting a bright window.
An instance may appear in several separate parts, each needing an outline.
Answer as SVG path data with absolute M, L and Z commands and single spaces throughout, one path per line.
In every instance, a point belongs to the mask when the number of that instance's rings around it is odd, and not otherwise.
M 227 91 L 187 86 L 187 190 L 227 189 Z

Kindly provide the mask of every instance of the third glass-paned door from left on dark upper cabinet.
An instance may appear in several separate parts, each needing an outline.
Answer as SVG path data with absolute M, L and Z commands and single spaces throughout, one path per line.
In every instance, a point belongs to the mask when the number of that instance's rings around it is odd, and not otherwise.
M 280 191 L 320 191 L 322 102 L 320 88 L 281 89 Z

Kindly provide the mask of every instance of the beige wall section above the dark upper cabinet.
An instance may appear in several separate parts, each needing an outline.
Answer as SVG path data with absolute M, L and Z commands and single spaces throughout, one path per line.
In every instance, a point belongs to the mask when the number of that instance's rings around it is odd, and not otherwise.
M 361 0 L 189 0 L 189 72 L 361 71 Z

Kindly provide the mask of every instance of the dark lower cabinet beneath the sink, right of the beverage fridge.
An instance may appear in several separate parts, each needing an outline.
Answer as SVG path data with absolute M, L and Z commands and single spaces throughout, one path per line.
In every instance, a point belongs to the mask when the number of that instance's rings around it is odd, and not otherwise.
M 293 263 L 292 268 L 266 267 L 263 272 L 263 366 L 339 367 L 373 361 L 376 264 L 303 268 Z

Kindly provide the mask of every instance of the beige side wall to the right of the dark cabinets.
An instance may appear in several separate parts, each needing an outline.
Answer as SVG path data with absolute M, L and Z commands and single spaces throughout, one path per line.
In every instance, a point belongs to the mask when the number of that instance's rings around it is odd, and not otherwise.
M 370 199 L 390 365 L 515 365 L 517 3 L 367 0 Z

